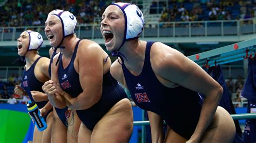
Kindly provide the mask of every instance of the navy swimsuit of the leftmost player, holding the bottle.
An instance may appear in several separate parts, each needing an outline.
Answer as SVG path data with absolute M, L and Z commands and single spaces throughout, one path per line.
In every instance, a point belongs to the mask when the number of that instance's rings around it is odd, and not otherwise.
M 44 93 L 44 91 L 42 89 L 42 86 L 44 85 L 44 83 L 41 81 L 38 81 L 35 76 L 35 73 L 34 73 L 36 63 L 41 58 L 42 58 L 42 56 L 37 58 L 36 61 L 32 64 L 32 66 L 28 70 L 24 69 L 24 74 L 23 74 L 23 78 L 22 78 L 22 87 L 28 93 L 31 101 L 34 101 L 34 99 L 31 95 L 30 91 L 35 90 L 35 91 L 40 91 L 40 92 Z M 43 108 L 46 103 L 48 103 L 48 101 L 36 102 L 39 109 Z M 52 109 L 44 116 L 45 121 L 51 111 L 52 111 Z

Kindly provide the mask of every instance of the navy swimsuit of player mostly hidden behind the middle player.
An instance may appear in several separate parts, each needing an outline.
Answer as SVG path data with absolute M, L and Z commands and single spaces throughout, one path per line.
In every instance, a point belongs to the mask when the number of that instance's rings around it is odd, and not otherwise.
M 52 64 L 52 61 L 53 61 L 53 57 L 57 54 L 56 50 L 53 50 L 53 53 L 52 53 L 52 56 L 51 56 L 51 62 L 50 62 L 50 65 L 49 65 L 49 75 L 51 77 L 51 64 Z M 59 117 L 59 119 L 62 121 L 63 125 L 68 127 L 68 125 L 66 124 L 66 116 L 65 116 L 65 112 L 66 110 L 68 110 L 68 107 L 66 106 L 65 108 L 63 109 L 59 109 L 59 108 L 55 108 L 55 111 Z

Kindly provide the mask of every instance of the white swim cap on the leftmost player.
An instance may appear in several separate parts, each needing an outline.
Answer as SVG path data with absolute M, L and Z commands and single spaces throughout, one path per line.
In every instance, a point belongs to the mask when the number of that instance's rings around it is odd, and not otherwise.
M 43 44 L 43 37 L 40 33 L 28 30 L 26 31 L 29 33 L 29 47 L 28 51 L 30 50 L 38 50 Z

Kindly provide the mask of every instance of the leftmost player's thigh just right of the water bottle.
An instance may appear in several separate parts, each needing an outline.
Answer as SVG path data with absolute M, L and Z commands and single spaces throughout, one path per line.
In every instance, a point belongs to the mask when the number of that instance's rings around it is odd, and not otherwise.
M 46 118 L 47 128 L 43 131 L 42 142 L 51 142 L 52 112 Z

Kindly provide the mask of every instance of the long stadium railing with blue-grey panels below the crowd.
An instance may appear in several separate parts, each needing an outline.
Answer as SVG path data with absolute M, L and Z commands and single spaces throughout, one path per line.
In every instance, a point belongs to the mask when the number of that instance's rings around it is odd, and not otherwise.
M 149 22 L 140 37 L 212 37 L 255 34 L 256 18 L 240 20 L 215 20 L 197 22 Z M 15 41 L 25 30 L 34 30 L 43 35 L 45 26 L 0 27 L 0 41 Z M 102 39 L 100 24 L 78 24 L 75 30 L 79 38 Z

